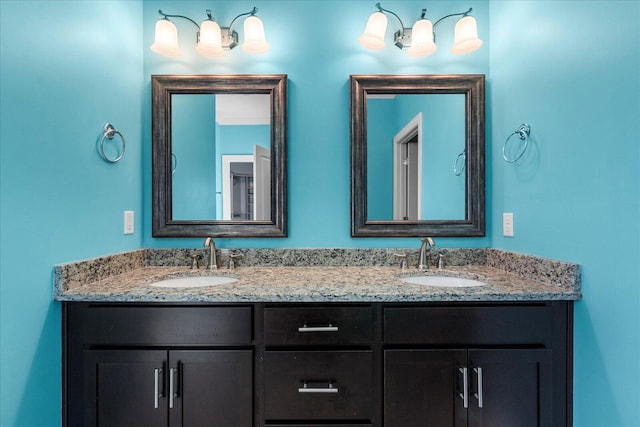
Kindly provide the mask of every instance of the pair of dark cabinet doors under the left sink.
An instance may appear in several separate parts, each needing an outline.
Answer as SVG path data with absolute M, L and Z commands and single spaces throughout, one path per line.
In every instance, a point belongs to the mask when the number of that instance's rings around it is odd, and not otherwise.
M 86 426 L 251 427 L 251 350 L 88 350 Z

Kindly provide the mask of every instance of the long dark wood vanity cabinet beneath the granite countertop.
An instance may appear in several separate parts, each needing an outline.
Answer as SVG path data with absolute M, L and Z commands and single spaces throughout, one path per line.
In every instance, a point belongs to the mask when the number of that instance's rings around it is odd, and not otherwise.
M 66 426 L 570 426 L 572 303 L 65 303 Z

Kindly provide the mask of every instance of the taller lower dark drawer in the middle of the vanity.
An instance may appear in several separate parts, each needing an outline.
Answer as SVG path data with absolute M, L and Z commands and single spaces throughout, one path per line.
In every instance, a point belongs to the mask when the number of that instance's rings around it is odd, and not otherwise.
M 370 420 L 370 351 L 265 352 L 267 420 Z

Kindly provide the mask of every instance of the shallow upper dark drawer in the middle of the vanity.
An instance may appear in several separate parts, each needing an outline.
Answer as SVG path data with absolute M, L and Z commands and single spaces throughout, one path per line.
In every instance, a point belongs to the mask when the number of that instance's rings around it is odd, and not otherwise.
M 266 345 L 371 345 L 371 307 L 264 309 Z

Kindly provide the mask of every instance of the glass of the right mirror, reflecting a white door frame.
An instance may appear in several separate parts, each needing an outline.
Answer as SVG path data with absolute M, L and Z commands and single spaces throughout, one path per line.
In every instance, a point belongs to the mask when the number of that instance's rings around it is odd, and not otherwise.
M 464 98 L 367 96 L 367 219 L 464 220 Z

